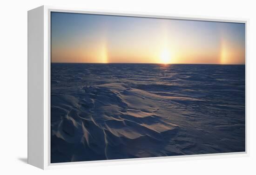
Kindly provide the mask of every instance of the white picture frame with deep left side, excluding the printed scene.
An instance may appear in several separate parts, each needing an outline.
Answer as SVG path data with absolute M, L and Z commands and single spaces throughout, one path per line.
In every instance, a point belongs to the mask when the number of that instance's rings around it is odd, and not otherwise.
M 134 13 L 134 12 L 112 12 L 112 11 L 90 11 L 75 8 L 63 8 L 55 6 L 40 6 L 28 11 L 28 163 L 40 169 L 54 169 L 63 167 L 94 166 L 105 164 L 125 164 L 138 162 L 161 162 L 175 161 L 177 159 L 202 159 L 214 157 L 248 156 L 248 112 L 247 112 L 247 75 L 246 66 L 246 138 L 245 152 L 240 153 L 218 153 L 192 156 L 165 156 L 150 158 L 135 158 L 122 160 L 104 160 L 89 162 L 67 162 L 50 163 L 50 13 L 89 13 L 119 16 L 152 17 L 165 19 L 190 19 L 220 22 L 239 22 L 245 24 L 246 31 L 246 65 L 248 65 L 248 19 L 227 18 L 202 18 L 197 16 L 179 16 L 169 14 Z

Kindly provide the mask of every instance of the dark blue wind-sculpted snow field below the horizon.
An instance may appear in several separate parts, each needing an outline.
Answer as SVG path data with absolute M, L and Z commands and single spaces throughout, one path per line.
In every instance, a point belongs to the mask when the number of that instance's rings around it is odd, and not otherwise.
M 52 163 L 245 151 L 244 65 L 51 69 Z

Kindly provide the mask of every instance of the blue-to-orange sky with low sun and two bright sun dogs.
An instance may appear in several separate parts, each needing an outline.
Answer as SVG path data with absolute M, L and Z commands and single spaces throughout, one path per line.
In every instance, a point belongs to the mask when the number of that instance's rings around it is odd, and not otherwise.
M 51 12 L 51 60 L 245 64 L 245 24 Z

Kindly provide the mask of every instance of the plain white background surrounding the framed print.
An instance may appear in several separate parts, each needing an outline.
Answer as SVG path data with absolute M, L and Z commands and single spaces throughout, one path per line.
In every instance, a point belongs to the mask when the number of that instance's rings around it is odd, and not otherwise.
M 0 2 L 0 174 L 255 174 L 256 4 L 253 0 L 6 0 Z M 249 19 L 249 156 L 186 158 L 43 171 L 27 161 L 27 10 L 41 5 Z

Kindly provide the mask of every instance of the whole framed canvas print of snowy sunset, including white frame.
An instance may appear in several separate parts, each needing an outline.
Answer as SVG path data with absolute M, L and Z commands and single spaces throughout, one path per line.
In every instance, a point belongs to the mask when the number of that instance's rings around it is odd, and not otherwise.
M 246 20 L 28 11 L 28 163 L 247 154 Z

